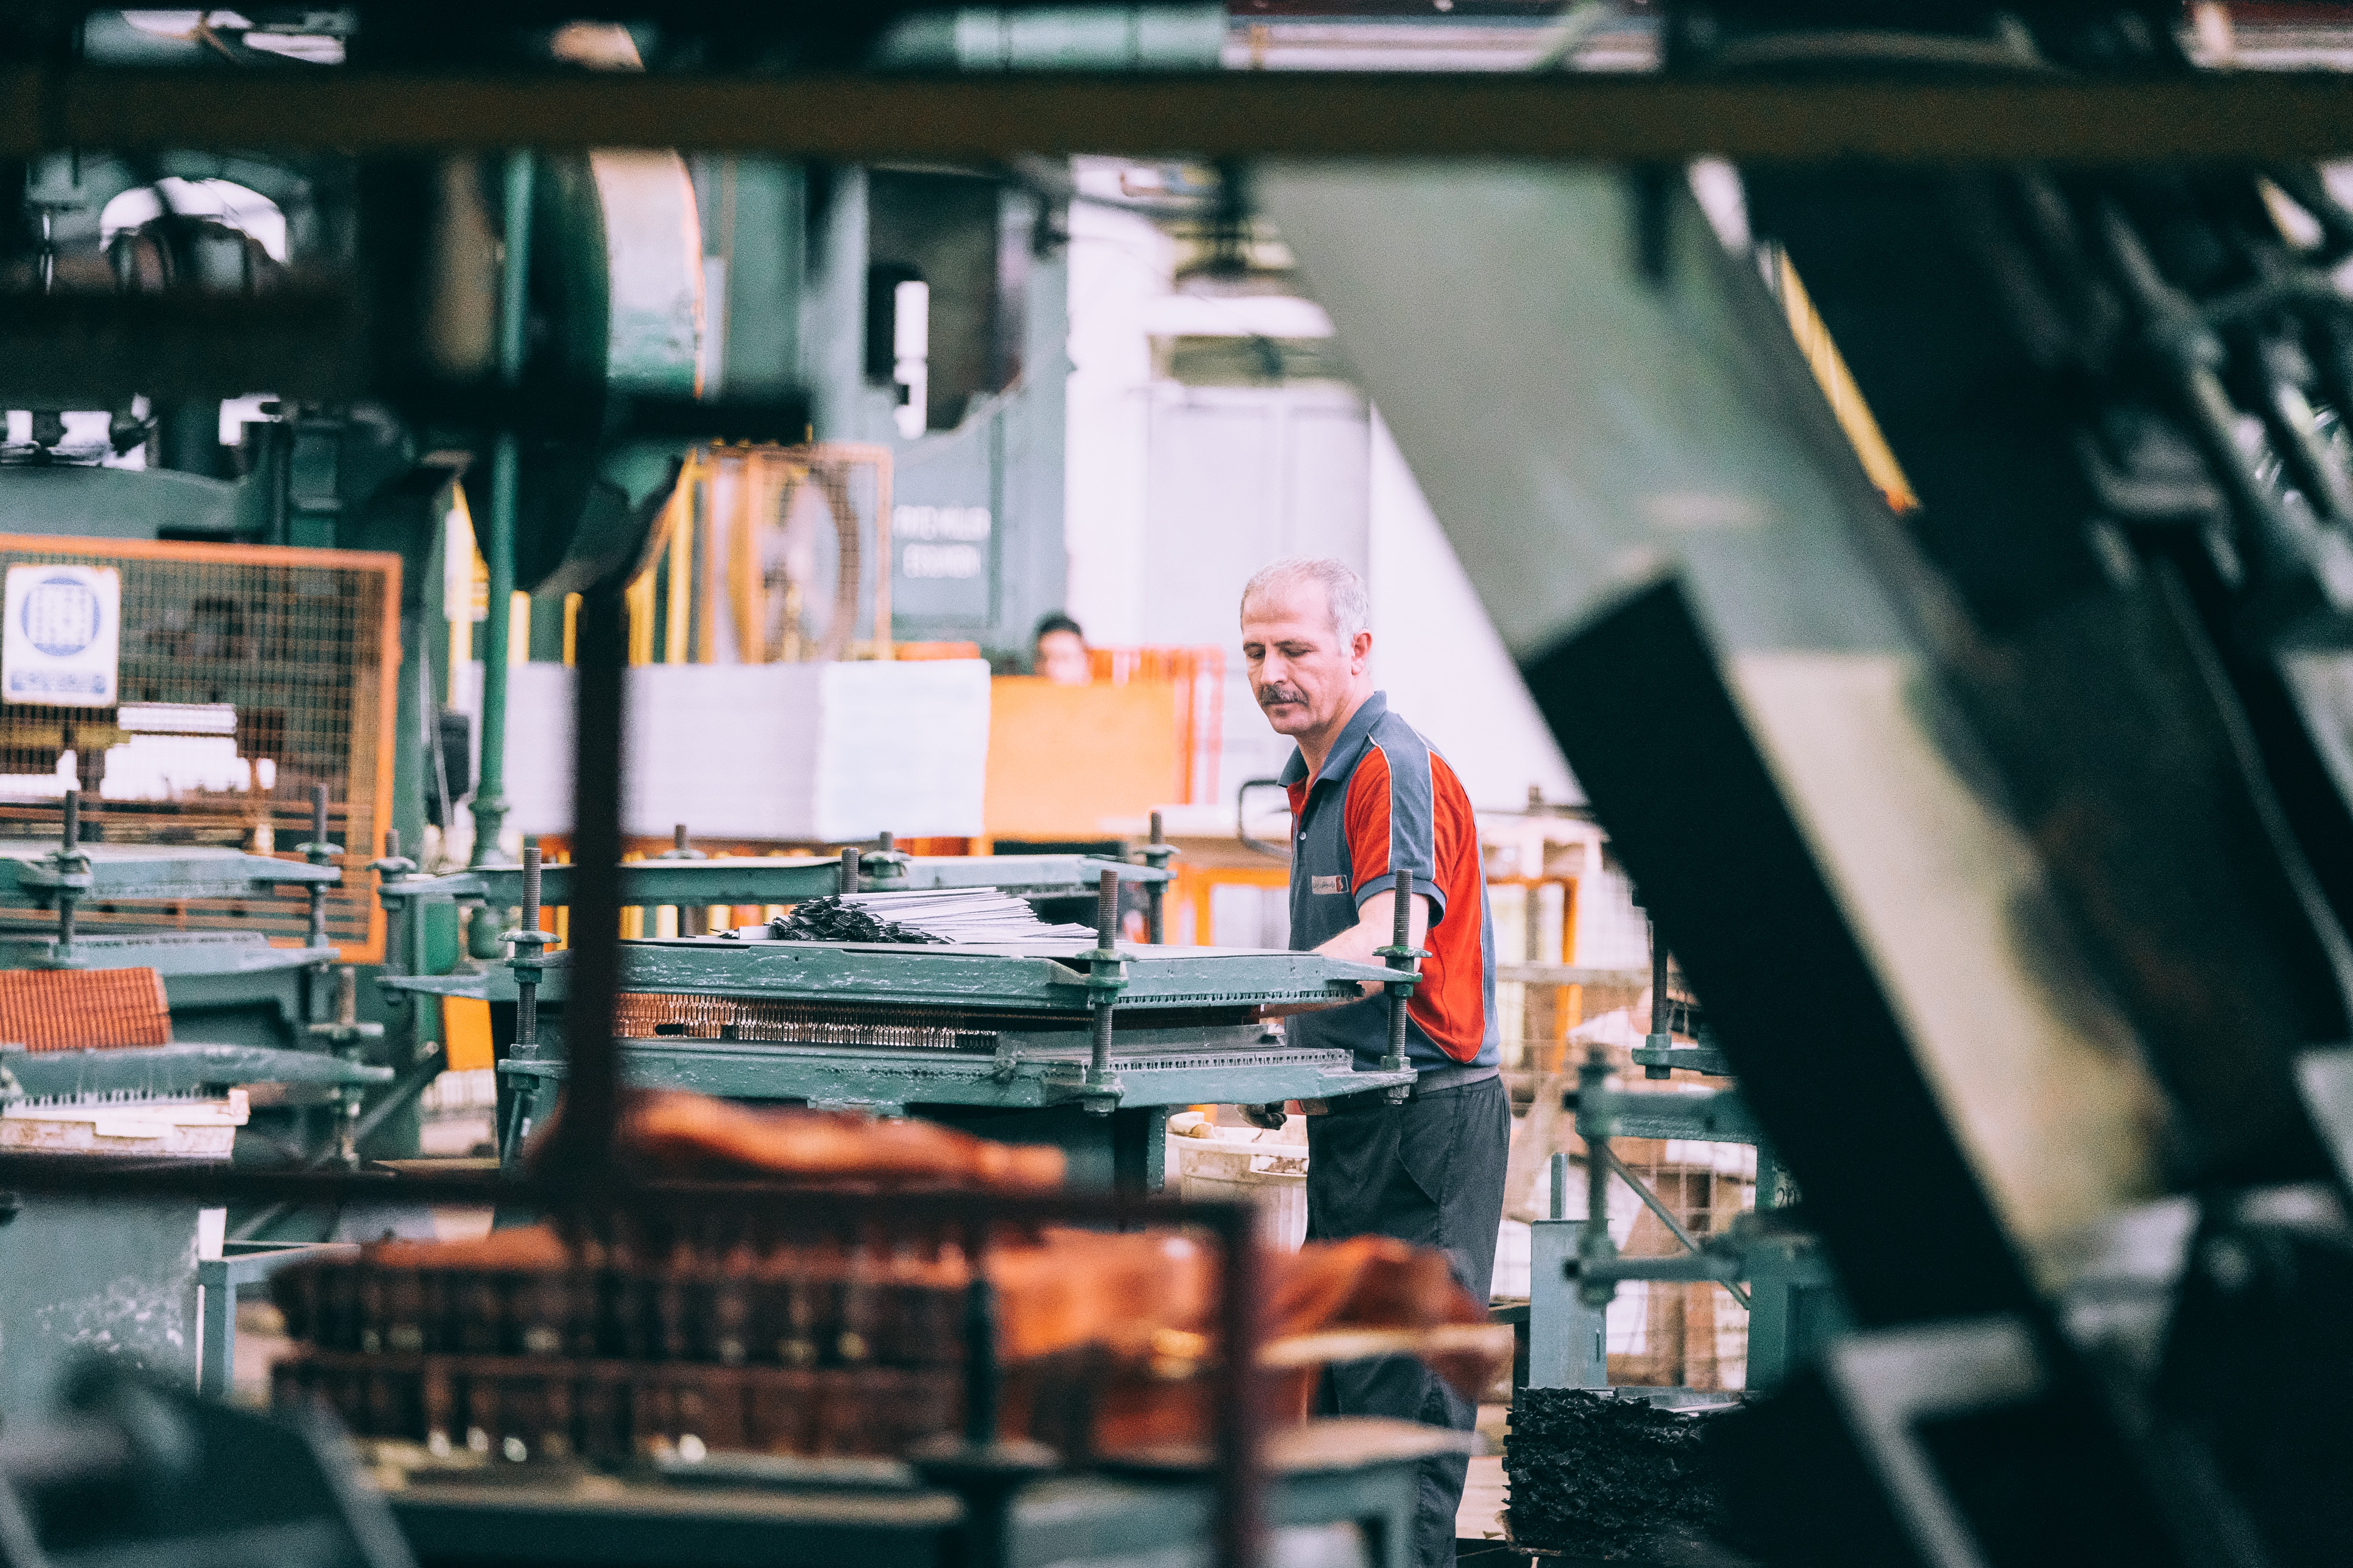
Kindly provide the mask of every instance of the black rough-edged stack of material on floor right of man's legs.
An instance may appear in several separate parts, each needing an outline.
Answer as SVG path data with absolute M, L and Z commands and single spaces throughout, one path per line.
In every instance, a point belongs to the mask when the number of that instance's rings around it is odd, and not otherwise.
M 1675 1568 L 1746 1561 L 1715 1540 L 1722 1488 L 1706 1441 L 1713 1420 L 1586 1389 L 1520 1389 L 1504 1443 L 1513 1542 Z

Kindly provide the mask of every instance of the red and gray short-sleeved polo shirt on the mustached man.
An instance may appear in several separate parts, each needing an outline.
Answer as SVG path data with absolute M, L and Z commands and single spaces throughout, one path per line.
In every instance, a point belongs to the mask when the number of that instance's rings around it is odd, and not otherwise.
M 1454 769 L 1374 691 L 1308 780 L 1306 757 L 1282 769 L 1292 792 L 1292 950 L 1351 929 L 1358 907 L 1398 872 L 1431 900 L 1421 985 L 1407 1009 L 1405 1051 L 1421 1072 L 1501 1063 L 1494 1018 L 1494 922 L 1478 823 Z M 1381 933 L 1388 945 L 1388 931 Z M 1388 1051 L 1388 999 L 1367 997 L 1282 1025 L 1294 1046 L 1348 1048 L 1372 1070 Z

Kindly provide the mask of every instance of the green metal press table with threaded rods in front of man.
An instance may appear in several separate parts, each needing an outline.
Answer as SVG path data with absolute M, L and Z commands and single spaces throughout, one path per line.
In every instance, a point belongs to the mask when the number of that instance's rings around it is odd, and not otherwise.
M 991 886 L 1033 898 L 1101 891 L 1106 875 L 1158 886 L 1165 870 L 1087 856 L 901 856 L 845 851 L 744 860 L 633 860 L 628 905 L 769 905 L 856 891 Z M 539 886 L 532 886 L 532 877 Z M 398 931 L 454 903 L 522 914 L 569 903 L 572 867 L 393 875 Z M 621 947 L 616 1034 L 628 1079 L 732 1100 L 922 1114 L 976 1133 L 1068 1150 L 1073 1180 L 1162 1185 L 1165 1126 L 1186 1105 L 1325 1100 L 1407 1081 L 1355 1072 L 1344 1051 L 1282 1044 L 1282 1011 L 1353 1001 L 1386 969 L 1304 952 L 1016 945 L 788 943 L 748 933 Z M 511 964 L 386 973 L 400 999 L 492 1006 L 501 1056 L 501 1150 L 555 1110 L 565 1079 L 569 954 L 518 943 Z

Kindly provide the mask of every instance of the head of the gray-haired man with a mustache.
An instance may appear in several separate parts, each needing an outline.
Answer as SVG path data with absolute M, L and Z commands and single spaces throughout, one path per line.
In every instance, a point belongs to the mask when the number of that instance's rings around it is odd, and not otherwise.
M 1329 741 L 1372 696 L 1365 578 L 1344 562 L 1292 555 L 1242 588 L 1242 658 L 1266 722 Z

